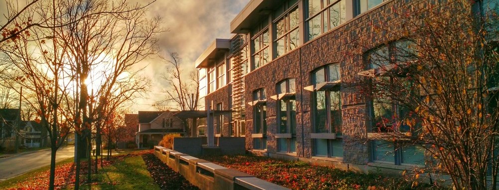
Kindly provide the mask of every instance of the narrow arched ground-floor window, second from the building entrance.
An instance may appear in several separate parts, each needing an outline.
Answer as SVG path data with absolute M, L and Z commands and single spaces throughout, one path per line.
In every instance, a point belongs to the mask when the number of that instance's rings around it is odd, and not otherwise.
M 296 101 L 295 79 L 290 78 L 277 83 L 278 131 L 276 134 L 279 152 L 296 152 Z

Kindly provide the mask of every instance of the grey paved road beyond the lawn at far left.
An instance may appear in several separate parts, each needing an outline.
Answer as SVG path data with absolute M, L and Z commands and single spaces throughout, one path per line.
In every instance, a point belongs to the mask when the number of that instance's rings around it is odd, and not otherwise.
M 55 161 L 74 157 L 74 147 L 63 147 L 57 151 Z M 0 181 L 50 165 L 50 149 L 19 154 L 0 159 Z

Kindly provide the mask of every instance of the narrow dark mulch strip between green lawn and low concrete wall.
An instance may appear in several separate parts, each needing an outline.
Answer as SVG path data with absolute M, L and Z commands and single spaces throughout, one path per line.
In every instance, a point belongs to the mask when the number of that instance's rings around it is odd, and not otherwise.
M 173 171 L 153 154 L 144 154 L 142 159 L 154 182 L 162 190 L 199 190 L 198 187 L 189 183 L 182 175 Z

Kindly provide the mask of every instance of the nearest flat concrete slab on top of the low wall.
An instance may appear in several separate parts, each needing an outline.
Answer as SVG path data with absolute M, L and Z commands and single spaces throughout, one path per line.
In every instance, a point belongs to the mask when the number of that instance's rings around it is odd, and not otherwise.
M 234 190 L 289 190 L 254 177 L 236 178 Z

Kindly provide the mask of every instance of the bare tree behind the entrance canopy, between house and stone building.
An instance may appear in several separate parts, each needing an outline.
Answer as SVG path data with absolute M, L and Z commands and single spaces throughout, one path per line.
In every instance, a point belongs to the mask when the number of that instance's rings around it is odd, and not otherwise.
M 186 76 L 186 68 L 181 62 L 181 57 L 177 52 L 168 52 L 163 60 L 167 64 L 167 69 L 163 73 L 162 78 L 166 80 L 168 87 L 164 91 L 166 97 L 164 100 L 155 103 L 156 109 L 159 111 L 166 110 L 196 110 L 198 108 L 199 99 L 199 73 L 196 70 L 188 72 Z M 189 124 L 186 119 L 182 119 L 185 129 L 189 129 Z M 196 119 L 192 120 L 191 136 L 195 136 Z

